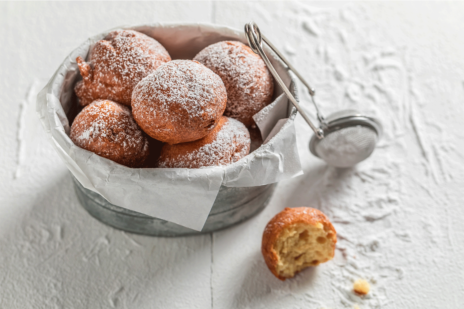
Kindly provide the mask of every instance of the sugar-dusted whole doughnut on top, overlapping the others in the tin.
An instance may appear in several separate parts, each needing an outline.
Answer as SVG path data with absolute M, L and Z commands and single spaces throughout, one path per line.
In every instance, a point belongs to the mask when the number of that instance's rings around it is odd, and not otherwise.
M 226 102 L 226 87 L 212 70 L 197 61 L 173 60 L 137 84 L 132 113 L 152 138 L 177 144 L 211 132 Z

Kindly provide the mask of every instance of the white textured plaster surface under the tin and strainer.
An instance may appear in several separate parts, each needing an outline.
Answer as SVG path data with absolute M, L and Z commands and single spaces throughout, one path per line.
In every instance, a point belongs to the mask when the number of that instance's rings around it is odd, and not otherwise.
M 464 2 L 0 2 L 0 308 L 464 308 Z M 358 108 L 384 136 L 353 169 L 326 166 L 296 119 L 304 175 L 236 227 L 156 238 L 80 206 L 35 96 L 95 33 L 155 21 L 253 19 L 316 88 L 324 114 Z M 309 95 L 300 87 L 309 113 Z M 311 206 L 335 258 L 285 282 L 260 253 L 266 223 Z M 371 283 L 355 296 L 358 278 Z

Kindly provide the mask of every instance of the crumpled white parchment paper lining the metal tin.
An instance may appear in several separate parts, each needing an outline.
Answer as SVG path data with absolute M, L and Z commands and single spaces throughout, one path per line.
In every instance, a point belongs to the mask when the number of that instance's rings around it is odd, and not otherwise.
M 209 44 L 226 39 L 246 43 L 242 32 L 209 24 L 153 24 L 122 27 L 143 32 L 163 44 L 173 59 L 192 59 Z M 108 31 L 109 32 L 109 31 Z M 65 111 L 78 76 L 76 57 L 86 58 L 90 47 L 105 37 L 89 38 L 64 60 L 37 96 L 37 112 L 47 137 L 74 177 L 110 203 L 200 231 L 221 185 L 251 187 L 301 175 L 293 118 L 282 90 L 271 105 L 254 116 L 267 142 L 226 167 L 201 169 L 131 169 L 77 147 L 69 138 Z M 284 66 L 268 52 L 280 76 L 290 85 Z M 289 112 L 290 111 L 290 112 Z

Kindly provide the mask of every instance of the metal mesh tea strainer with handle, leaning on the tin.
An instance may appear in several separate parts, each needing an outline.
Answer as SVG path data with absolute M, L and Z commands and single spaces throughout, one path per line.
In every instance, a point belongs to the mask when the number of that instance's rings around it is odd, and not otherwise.
M 316 157 L 323 159 L 329 165 L 335 167 L 351 167 L 370 156 L 382 133 L 382 126 L 379 120 L 355 110 L 343 110 L 331 114 L 327 118 L 322 117 L 316 101 L 314 101 L 314 95 L 316 94 L 314 88 L 309 86 L 277 48 L 261 34 L 258 26 L 253 21 L 245 24 L 245 36 L 251 50 L 263 58 L 264 63 L 266 63 L 280 88 L 282 88 L 285 95 L 287 95 L 296 107 L 296 110 L 300 112 L 303 119 L 306 120 L 314 131 L 314 135 L 309 141 L 309 150 Z M 308 88 L 311 101 L 314 107 L 316 107 L 317 119 L 319 120 L 318 127 L 313 125 L 277 74 L 268 57 L 264 54 L 262 41 L 282 59 L 289 69 L 303 82 L 306 88 Z

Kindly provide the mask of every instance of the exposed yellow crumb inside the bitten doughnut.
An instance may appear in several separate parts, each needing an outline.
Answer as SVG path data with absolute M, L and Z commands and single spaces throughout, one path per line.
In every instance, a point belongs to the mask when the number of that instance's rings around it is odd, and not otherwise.
M 324 230 L 320 222 L 316 225 L 296 223 L 285 227 L 274 245 L 278 275 L 293 277 L 308 266 L 316 266 L 332 259 L 333 237 L 335 235 L 330 230 Z

